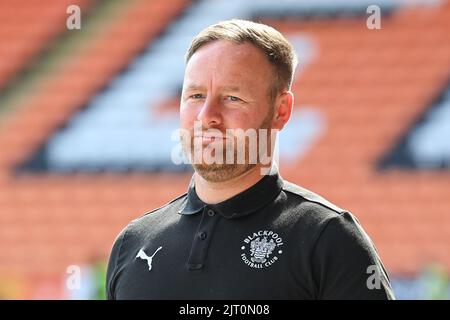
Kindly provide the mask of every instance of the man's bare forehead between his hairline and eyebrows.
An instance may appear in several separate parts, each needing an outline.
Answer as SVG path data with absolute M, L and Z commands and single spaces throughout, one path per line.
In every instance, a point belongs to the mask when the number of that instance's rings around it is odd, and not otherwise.
M 185 82 L 225 82 L 228 85 L 267 85 L 272 65 L 251 43 L 218 40 L 198 49 L 189 60 Z

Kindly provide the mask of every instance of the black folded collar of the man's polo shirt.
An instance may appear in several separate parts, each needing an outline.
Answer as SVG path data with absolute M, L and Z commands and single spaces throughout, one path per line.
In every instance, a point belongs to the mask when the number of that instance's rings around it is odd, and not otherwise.
M 283 179 L 278 174 L 276 166 L 273 166 L 270 173 L 247 190 L 220 203 L 206 204 L 198 197 L 192 177 L 187 197 L 178 213 L 192 215 L 208 206 L 228 219 L 242 217 L 265 207 L 278 196 L 282 188 Z

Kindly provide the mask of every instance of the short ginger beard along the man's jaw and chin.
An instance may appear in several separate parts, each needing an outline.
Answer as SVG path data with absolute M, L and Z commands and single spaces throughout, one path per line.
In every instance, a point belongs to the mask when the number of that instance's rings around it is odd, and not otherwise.
M 270 111 L 268 112 L 267 116 L 262 121 L 261 125 L 257 130 L 259 129 L 268 129 L 269 137 L 270 137 L 270 127 L 271 122 L 274 114 L 274 108 L 271 107 Z M 186 141 L 181 137 L 181 141 L 183 144 L 183 150 L 186 155 L 188 155 L 188 158 L 193 159 L 194 158 L 194 135 L 191 134 L 190 136 L 190 145 L 186 143 Z M 233 178 L 239 177 L 244 175 L 245 173 L 249 172 L 253 168 L 256 167 L 257 163 L 250 163 L 250 153 L 249 153 L 249 143 L 248 141 L 245 141 L 245 161 L 244 163 L 237 163 L 238 159 L 238 151 L 236 147 L 236 142 L 234 143 L 234 163 L 226 163 L 226 161 L 223 161 L 223 163 L 212 163 L 207 164 L 205 162 L 197 163 L 196 161 L 191 161 L 192 167 L 194 168 L 195 172 L 198 173 L 203 179 L 209 182 L 224 182 L 229 181 Z M 260 147 L 260 141 L 259 141 L 259 135 L 257 140 L 257 150 L 259 151 Z M 269 148 L 271 148 L 270 142 L 269 142 Z M 224 145 L 223 148 L 223 158 L 226 158 L 226 146 Z M 189 157 L 190 156 L 190 157 Z M 258 154 L 259 159 L 259 154 Z

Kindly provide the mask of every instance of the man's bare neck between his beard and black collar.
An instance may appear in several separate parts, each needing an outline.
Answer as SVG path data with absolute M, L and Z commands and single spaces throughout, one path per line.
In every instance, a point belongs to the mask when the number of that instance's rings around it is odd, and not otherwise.
M 247 190 L 263 177 L 264 175 L 261 174 L 259 165 L 238 177 L 223 182 L 207 181 L 198 173 L 194 173 L 195 191 L 203 202 L 215 204 Z

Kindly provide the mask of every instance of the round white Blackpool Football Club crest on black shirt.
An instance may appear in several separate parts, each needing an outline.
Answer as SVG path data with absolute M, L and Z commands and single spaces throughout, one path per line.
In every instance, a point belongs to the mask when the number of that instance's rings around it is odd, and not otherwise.
M 241 247 L 242 261 L 250 268 L 263 269 L 279 260 L 283 239 L 270 230 L 260 230 L 244 239 Z

